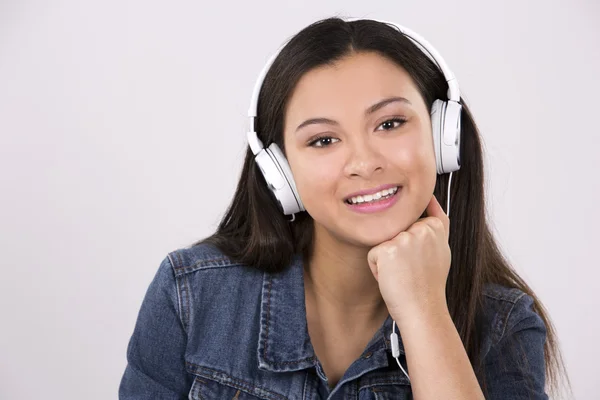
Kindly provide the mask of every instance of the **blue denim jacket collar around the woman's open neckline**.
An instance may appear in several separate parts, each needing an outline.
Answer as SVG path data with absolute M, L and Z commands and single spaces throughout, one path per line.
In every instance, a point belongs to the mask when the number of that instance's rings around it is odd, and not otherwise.
M 396 328 L 397 329 L 397 328 Z M 371 362 L 388 365 L 391 356 L 392 319 L 388 315 L 367 347 Z M 404 346 L 399 336 L 400 354 Z M 300 255 L 280 273 L 264 273 L 258 339 L 259 368 L 274 372 L 297 371 L 316 365 L 310 342 L 304 298 L 304 268 Z

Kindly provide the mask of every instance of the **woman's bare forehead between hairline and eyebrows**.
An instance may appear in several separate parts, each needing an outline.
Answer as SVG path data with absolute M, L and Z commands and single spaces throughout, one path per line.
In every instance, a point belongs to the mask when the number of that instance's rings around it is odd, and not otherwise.
M 352 107 L 365 109 L 393 95 L 406 97 L 413 104 L 421 97 L 404 68 L 377 53 L 356 53 L 304 74 L 286 113 L 294 119 Z

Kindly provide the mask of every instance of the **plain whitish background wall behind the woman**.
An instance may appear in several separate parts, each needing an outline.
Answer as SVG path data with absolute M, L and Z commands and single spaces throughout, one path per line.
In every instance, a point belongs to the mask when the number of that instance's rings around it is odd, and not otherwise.
M 116 398 L 167 252 L 211 233 L 252 86 L 317 19 L 395 21 L 454 71 L 489 214 L 597 398 L 600 6 L 589 1 L 0 2 L 0 398 Z

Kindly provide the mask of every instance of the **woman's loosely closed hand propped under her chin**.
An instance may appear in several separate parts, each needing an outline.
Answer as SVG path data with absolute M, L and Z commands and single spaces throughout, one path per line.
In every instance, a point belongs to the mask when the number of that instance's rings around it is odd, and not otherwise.
M 426 213 L 426 218 L 368 253 L 369 267 L 394 319 L 447 310 L 450 220 L 435 196 Z

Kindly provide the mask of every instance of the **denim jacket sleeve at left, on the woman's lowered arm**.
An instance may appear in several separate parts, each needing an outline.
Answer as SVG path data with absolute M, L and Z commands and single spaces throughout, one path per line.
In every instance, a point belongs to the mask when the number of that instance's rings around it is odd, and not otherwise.
M 179 317 L 177 282 L 167 256 L 146 291 L 127 347 L 119 399 L 187 399 L 186 332 Z

